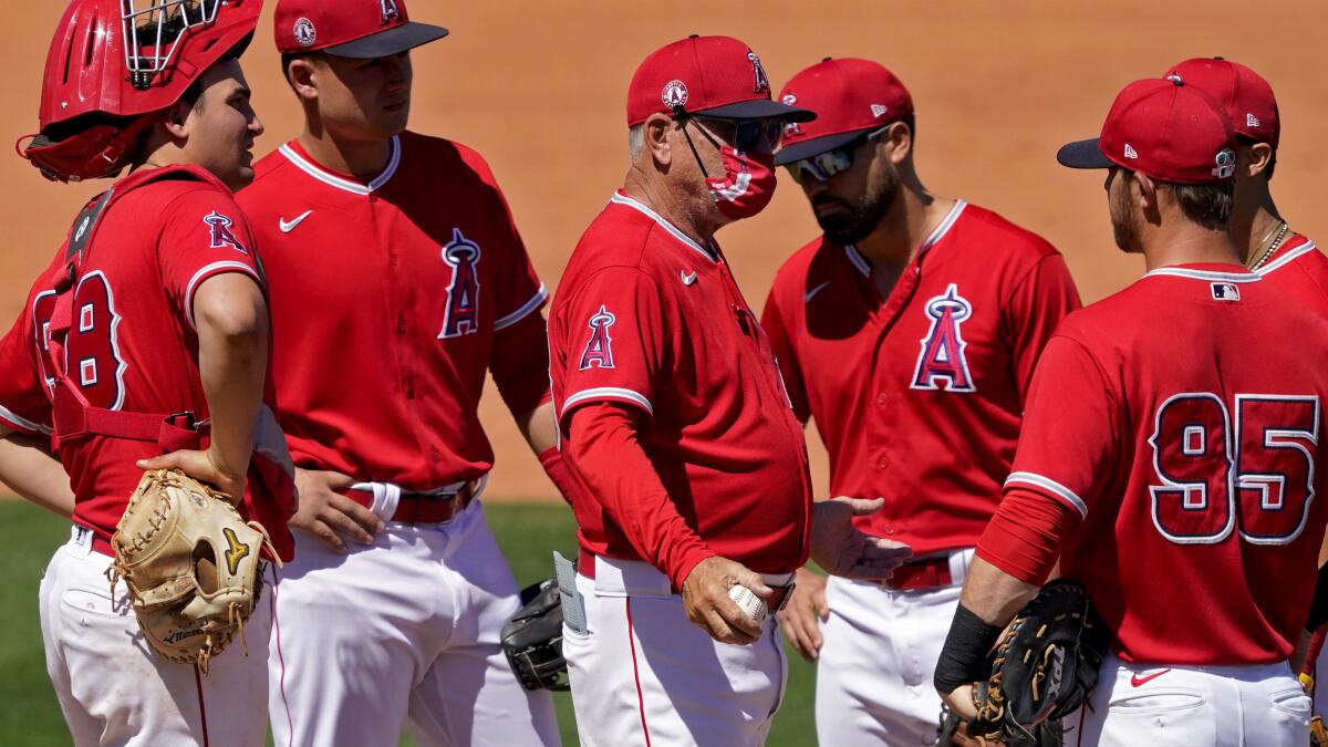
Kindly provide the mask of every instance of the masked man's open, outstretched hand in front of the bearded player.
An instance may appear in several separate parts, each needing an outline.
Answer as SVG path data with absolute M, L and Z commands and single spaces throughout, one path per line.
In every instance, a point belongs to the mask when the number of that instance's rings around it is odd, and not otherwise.
M 811 514 L 811 560 L 834 576 L 884 581 L 912 557 L 908 545 L 863 534 L 853 517 L 880 510 L 883 498 L 837 497 L 815 504 Z

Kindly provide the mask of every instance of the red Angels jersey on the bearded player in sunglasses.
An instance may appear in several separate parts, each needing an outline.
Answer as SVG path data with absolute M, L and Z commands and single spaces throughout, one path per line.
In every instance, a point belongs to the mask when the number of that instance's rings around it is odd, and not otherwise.
M 822 237 L 780 268 L 761 322 L 830 452 L 831 494 L 886 498 L 858 526 L 924 554 L 976 545 L 1037 356 L 1078 304 L 1049 243 L 959 201 L 888 298 Z

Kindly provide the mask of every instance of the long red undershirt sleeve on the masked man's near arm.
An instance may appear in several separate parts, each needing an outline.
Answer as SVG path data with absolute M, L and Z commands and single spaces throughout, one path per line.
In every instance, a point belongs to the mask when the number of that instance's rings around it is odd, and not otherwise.
M 599 401 L 578 407 L 563 441 L 567 465 L 627 536 L 645 562 L 664 572 L 675 589 L 714 554 L 687 525 L 637 439 L 648 416 L 632 405 Z

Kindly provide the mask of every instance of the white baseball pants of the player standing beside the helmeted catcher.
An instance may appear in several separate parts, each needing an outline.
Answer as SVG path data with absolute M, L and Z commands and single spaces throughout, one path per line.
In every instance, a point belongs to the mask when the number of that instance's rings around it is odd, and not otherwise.
M 348 554 L 295 532 L 270 655 L 278 747 L 558 744 L 547 691 L 498 646 L 517 582 L 479 501 L 446 524 L 394 524 Z

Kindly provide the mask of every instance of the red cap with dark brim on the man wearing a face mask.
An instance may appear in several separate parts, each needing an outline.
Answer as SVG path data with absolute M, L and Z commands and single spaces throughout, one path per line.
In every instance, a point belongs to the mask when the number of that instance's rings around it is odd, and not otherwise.
M 778 117 L 809 122 L 806 109 L 770 101 L 761 58 L 730 36 L 692 35 L 651 53 L 627 86 L 627 126 L 651 114 L 704 114 L 729 120 Z

